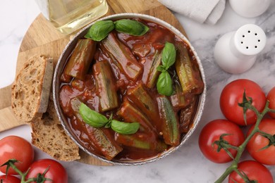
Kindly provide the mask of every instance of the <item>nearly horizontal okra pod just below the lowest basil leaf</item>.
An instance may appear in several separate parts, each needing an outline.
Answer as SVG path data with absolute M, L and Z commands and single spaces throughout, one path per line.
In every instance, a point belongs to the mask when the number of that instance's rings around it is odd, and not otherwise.
M 116 135 L 116 141 L 123 146 L 153 150 L 157 152 L 163 152 L 167 149 L 167 145 L 163 141 L 158 139 L 150 141 L 149 139 L 150 137 L 148 134 Z

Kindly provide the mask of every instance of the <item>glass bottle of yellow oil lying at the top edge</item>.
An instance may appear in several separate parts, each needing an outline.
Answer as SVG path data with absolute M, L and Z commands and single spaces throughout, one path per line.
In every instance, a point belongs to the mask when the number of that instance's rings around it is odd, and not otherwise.
M 36 1 L 44 17 L 63 34 L 71 34 L 108 11 L 106 0 Z

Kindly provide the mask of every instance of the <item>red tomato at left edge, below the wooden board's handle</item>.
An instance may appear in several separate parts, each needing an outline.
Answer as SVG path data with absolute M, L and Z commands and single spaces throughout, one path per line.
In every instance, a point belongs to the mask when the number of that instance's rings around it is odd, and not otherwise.
M 0 165 L 3 165 L 10 159 L 16 159 L 16 167 L 21 171 L 27 171 L 35 156 L 32 145 L 25 139 L 17 136 L 8 136 L 0 140 Z M 0 168 L 1 172 L 6 173 L 6 165 Z M 18 175 L 10 168 L 8 175 Z

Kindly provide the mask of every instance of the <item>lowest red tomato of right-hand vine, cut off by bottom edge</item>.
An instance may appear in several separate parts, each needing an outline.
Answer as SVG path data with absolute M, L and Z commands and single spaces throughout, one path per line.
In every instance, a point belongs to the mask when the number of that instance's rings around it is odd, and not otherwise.
M 257 183 L 273 183 L 271 172 L 261 163 L 255 160 L 245 160 L 238 164 L 238 170 L 245 173 L 250 181 L 257 180 Z M 236 172 L 231 172 L 228 177 L 229 183 L 245 183 Z

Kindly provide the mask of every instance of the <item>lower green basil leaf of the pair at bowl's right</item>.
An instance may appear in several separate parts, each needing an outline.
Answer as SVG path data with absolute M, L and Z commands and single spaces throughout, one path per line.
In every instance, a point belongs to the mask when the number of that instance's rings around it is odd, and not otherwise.
M 169 72 L 161 72 L 157 80 L 157 92 L 165 96 L 173 94 L 172 79 Z

